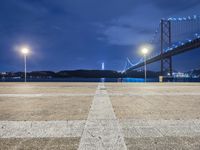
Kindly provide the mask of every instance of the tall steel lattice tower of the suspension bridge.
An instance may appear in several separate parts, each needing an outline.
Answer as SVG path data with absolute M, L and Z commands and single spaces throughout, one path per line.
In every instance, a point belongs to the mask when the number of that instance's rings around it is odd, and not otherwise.
M 164 48 L 170 47 L 171 46 L 171 22 L 170 20 L 164 20 L 161 19 L 160 22 L 161 26 L 161 36 L 160 36 L 160 42 L 161 42 L 161 56 L 164 53 Z M 172 57 L 168 57 L 165 59 L 161 59 L 161 76 L 169 74 L 172 76 Z

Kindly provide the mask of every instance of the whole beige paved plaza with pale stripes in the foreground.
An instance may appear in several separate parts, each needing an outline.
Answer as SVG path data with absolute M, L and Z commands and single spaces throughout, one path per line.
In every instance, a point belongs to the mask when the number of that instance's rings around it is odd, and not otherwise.
M 0 150 L 199 150 L 199 83 L 0 83 Z

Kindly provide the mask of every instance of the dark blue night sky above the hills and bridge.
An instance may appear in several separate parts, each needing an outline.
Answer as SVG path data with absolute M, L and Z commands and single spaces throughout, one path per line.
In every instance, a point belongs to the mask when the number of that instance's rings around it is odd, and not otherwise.
M 199 0 L 1 0 L 0 71 L 122 70 L 137 62 L 161 18 L 200 15 Z M 200 50 L 173 58 L 175 70 L 200 67 Z M 157 68 L 151 65 L 150 69 Z

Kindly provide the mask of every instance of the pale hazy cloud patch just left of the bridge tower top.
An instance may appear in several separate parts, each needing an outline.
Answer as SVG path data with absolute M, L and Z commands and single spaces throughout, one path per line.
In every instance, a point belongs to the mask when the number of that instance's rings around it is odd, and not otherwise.
M 154 15 L 143 13 L 144 10 L 151 11 Z M 109 44 L 138 45 L 151 39 L 161 15 L 151 4 L 138 6 L 132 13 L 101 25 L 101 33 Z

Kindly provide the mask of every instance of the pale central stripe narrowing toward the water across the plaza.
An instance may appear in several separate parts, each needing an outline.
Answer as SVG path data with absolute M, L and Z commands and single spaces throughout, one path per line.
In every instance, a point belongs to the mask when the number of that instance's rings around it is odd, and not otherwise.
M 104 96 L 101 96 L 103 94 Z M 107 95 L 107 96 L 105 96 Z M 122 129 L 103 84 L 98 86 L 79 150 L 126 150 Z

